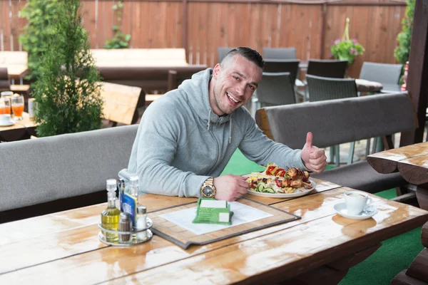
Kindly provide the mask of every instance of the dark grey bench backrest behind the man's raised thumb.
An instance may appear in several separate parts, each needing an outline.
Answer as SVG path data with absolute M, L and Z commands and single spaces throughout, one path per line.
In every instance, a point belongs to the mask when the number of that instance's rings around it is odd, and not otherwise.
M 417 128 L 407 93 L 266 107 L 257 110 L 256 122 L 267 137 L 292 148 L 302 148 L 307 132 L 314 145 L 328 147 Z

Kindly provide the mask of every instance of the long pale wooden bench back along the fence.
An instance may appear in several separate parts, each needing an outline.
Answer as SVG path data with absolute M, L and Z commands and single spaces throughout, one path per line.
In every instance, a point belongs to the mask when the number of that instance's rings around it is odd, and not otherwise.
M 96 66 L 188 66 L 184 48 L 92 49 Z

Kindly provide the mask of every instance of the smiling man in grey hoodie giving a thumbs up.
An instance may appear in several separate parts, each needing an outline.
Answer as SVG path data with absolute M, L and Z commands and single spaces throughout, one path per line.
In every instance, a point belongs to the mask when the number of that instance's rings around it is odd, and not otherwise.
M 213 69 L 195 73 L 147 108 L 128 165 L 140 178 L 141 191 L 239 199 L 247 192 L 245 177 L 218 176 L 237 147 L 259 165 L 325 170 L 327 157 L 312 146 L 312 133 L 302 150 L 292 150 L 263 135 L 243 107 L 263 66 L 257 51 L 235 48 Z

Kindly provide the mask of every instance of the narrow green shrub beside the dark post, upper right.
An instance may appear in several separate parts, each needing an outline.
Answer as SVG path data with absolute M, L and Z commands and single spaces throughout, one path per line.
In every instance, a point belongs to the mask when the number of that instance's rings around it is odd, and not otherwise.
M 410 43 L 412 41 L 412 27 L 414 16 L 414 1 L 407 0 L 406 16 L 402 19 L 402 32 L 398 34 L 398 46 L 394 49 L 394 56 L 399 63 L 409 61 Z

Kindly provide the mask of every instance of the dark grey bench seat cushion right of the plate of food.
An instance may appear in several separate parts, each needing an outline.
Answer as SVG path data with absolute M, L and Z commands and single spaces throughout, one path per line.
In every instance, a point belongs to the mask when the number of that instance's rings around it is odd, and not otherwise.
M 367 161 L 356 162 L 322 173 L 312 173 L 311 176 L 370 193 L 407 184 L 399 172 L 380 174 Z

